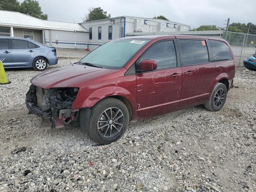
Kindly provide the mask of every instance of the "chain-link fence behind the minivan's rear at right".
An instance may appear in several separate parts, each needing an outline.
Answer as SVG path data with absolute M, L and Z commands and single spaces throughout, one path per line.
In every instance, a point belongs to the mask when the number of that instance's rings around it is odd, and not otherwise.
M 222 38 L 225 38 L 225 32 Z M 233 50 L 236 66 L 243 66 L 244 59 L 256 52 L 256 35 L 228 32 L 226 40 Z

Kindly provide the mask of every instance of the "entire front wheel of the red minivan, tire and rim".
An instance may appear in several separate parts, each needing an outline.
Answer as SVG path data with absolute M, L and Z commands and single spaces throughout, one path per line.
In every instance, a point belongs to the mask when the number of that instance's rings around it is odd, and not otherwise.
M 129 120 L 129 111 L 123 102 L 115 98 L 103 99 L 92 108 L 89 136 L 97 143 L 110 144 L 122 137 Z

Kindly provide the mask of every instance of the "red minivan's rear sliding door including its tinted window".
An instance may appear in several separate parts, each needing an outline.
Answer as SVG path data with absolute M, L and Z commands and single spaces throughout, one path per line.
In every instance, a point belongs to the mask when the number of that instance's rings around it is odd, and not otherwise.
M 209 63 L 205 40 L 178 40 L 182 65 L 180 108 L 207 100 L 215 78 L 215 64 Z

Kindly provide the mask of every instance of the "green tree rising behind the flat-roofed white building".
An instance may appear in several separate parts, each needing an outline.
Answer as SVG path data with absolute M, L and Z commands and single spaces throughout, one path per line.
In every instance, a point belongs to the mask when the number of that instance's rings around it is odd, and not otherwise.
M 83 21 L 94 21 L 94 20 L 100 20 L 100 19 L 108 19 L 111 17 L 110 14 L 107 14 L 106 11 L 104 11 L 102 8 L 97 7 L 91 7 L 88 9 L 89 13 L 85 15 L 83 18 Z

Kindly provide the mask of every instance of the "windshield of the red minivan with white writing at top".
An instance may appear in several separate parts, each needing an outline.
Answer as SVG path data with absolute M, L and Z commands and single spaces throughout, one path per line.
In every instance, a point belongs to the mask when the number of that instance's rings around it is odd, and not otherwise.
M 82 58 L 78 64 L 89 63 L 102 68 L 122 68 L 150 39 L 120 39 L 107 42 Z

